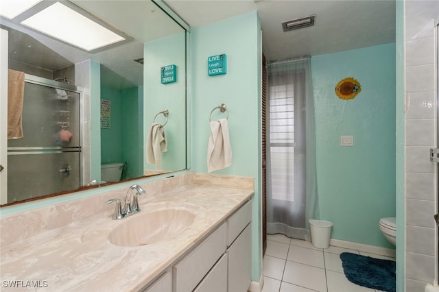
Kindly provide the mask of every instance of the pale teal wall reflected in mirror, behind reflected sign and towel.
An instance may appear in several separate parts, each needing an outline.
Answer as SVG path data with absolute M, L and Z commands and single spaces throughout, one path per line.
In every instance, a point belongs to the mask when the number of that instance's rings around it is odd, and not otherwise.
M 162 153 L 162 169 L 176 171 L 186 168 L 186 33 L 181 32 L 152 42 L 145 43 L 143 67 L 145 80 L 145 137 L 158 112 L 169 111 L 165 134 L 167 152 Z M 161 84 L 161 67 L 175 64 L 177 66 L 177 81 Z M 156 122 L 164 123 L 165 117 L 159 114 Z M 147 164 L 145 169 L 156 169 Z

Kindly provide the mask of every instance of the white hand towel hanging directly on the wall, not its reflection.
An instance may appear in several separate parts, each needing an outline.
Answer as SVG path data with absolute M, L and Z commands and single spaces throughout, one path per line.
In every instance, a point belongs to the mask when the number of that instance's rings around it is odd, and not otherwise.
M 225 169 L 232 164 L 232 147 L 227 119 L 211 121 L 211 136 L 207 146 L 207 172 Z

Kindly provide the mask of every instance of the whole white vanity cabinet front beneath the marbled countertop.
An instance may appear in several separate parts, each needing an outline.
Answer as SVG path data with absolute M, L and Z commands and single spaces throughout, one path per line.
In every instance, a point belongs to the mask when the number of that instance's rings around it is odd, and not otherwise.
M 249 201 L 144 292 L 246 292 L 252 268 L 251 219 Z

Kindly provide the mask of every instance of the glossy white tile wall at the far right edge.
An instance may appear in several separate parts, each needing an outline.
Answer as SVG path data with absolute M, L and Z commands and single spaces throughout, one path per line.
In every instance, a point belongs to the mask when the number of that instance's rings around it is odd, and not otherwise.
M 436 15 L 438 14 L 438 15 Z M 405 1 L 405 291 L 436 279 L 435 30 L 439 1 Z

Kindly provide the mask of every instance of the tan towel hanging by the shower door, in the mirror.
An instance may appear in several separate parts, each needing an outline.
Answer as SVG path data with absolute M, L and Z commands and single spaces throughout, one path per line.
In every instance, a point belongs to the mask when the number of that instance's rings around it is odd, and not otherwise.
M 25 73 L 8 70 L 8 139 L 23 138 L 21 117 L 25 93 Z

